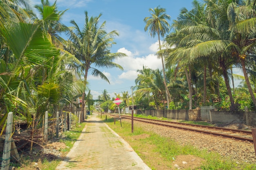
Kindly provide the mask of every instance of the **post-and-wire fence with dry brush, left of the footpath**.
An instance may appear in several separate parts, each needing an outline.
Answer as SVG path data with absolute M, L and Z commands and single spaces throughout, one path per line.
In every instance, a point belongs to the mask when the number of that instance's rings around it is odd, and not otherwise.
M 42 143 L 46 145 L 49 139 L 58 138 L 59 133 L 66 132 L 81 123 L 81 111 L 75 113 L 63 111 L 61 113 L 57 112 L 55 115 L 56 117 L 48 119 L 48 111 L 46 111 L 43 119 L 33 119 L 32 126 L 22 130 L 13 123 L 13 113 L 8 113 L 7 123 L 4 125 L 6 126 L 5 129 L 3 127 L 5 133 L 0 135 L 1 170 L 9 170 L 10 160 L 18 162 L 20 159 L 15 139 L 23 141 L 24 144 L 19 144 L 20 148 L 31 144 L 30 148 L 22 150 L 22 152 L 32 152 L 33 144 L 40 145 L 39 143 Z

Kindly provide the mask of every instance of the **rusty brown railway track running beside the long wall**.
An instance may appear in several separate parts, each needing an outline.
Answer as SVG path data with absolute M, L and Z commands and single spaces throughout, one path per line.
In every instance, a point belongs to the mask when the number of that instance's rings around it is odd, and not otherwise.
M 110 115 L 114 117 L 119 117 L 119 115 L 112 115 L 112 114 Z M 126 116 L 126 115 L 121 115 L 121 118 L 132 119 L 131 116 Z M 141 121 L 141 122 L 156 124 L 160 126 L 168 126 L 172 128 L 189 130 L 193 132 L 199 132 L 202 134 L 225 137 L 225 138 L 235 139 L 238 141 L 253 143 L 252 132 L 247 130 L 229 129 L 229 128 L 221 128 L 221 127 L 213 127 L 213 126 L 196 125 L 196 124 L 185 124 L 185 123 L 179 123 L 179 122 L 173 122 L 173 121 L 146 119 L 141 117 L 133 117 L 133 119 L 135 121 Z

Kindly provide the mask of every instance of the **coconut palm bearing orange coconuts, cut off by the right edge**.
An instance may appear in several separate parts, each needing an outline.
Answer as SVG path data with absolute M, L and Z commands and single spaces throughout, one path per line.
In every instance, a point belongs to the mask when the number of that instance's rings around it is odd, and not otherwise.
M 247 5 L 240 5 L 234 2 L 229 4 L 227 12 L 233 14 L 229 15 L 229 21 L 231 22 L 231 41 L 235 44 L 232 56 L 237 59 L 237 62 L 242 67 L 245 82 L 252 97 L 254 107 L 256 108 L 256 98 L 247 74 L 247 68 L 250 67 L 250 63 L 255 62 L 254 57 L 250 57 L 251 54 L 255 53 L 256 44 L 256 33 L 254 31 L 256 14 L 254 5 L 255 1 L 253 5 L 252 2 L 247 3 Z

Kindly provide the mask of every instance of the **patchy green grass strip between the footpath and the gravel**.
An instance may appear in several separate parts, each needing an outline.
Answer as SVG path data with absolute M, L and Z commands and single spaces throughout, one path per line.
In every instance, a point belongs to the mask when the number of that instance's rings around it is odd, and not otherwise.
M 202 159 L 201 163 L 195 168 L 185 168 L 187 170 L 253 170 L 255 164 L 236 163 L 229 159 L 224 159 L 216 152 L 207 150 L 198 150 L 197 148 L 186 145 L 181 146 L 172 139 L 161 137 L 158 134 L 149 132 L 146 129 L 134 126 L 134 132 L 131 132 L 131 124 L 128 121 L 122 121 L 122 127 L 119 121 L 114 124 L 113 118 L 107 121 L 102 119 L 110 128 L 126 140 L 130 146 L 137 152 L 139 157 L 152 169 L 164 170 L 173 168 L 173 160 L 179 156 L 193 155 Z M 184 168 L 182 168 L 184 169 Z

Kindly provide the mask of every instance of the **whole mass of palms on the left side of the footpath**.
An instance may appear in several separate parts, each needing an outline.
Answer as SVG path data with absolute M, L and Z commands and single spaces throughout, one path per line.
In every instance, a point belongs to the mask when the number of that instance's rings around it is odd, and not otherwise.
M 86 99 L 92 98 L 88 71 L 108 82 L 97 68 L 122 69 L 113 61 L 125 55 L 110 53 L 118 33 L 106 32 L 105 22 L 99 25 L 101 14 L 89 18 L 85 12 L 84 27 L 79 29 L 74 20 L 73 27 L 61 23 L 65 11 L 58 11 L 56 1 L 41 0 L 34 8 L 27 0 L 0 1 L 0 126 L 10 111 L 28 124 L 34 117 L 38 124 L 46 110 L 70 109 L 79 97 L 84 108 Z

